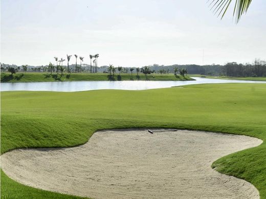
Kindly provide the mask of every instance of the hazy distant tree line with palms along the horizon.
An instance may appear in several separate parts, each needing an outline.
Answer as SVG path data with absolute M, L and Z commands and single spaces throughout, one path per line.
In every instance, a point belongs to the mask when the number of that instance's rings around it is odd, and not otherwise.
M 94 56 L 90 55 L 90 64 L 82 64 L 84 57 L 78 57 L 77 55 L 74 55 L 76 60 L 75 64 L 69 65 L 70 62 L 70 55 L 66 56 L 66 66 L 63 65 L 63 62 L 65 59 L 61 58 L 58 59 L 55 57 L 56 60 L 55 64 L 52 64 L 50 62 L 47 66 L 28 66 L 28 65 L 22 65 L 22 66 L 16 66 L 16 65 L 8 65 L 8 64 L 1 64 L 1 71 L 9 71 L 12 74 L 17 71 L 35 71 L 35 72 L 56 72 L 57 74 L 60 72 L 61 75 L 63 72 L 105 72 L 109 73 L 110 69 L 109 66 L 100 66 L 98 67 L 98 57 L 99 54 L 96 54 Z M 79 58 L 79 60 L 78 60 Z M 80 63 L 78 64 L 78 61 Z M 169 74 L 169 73 L 180 73 L 181 75 L 189 74 L 204 74 L 209 76 L 229 76 L 229 77 L 266 77 L 266 61 L 262 61 L 259 59 L 256 59 L 252 64 L 238 64 L 236 62 L 230 62 L 225 65 L 195 65 L 195 64 L 187 64 L 187 65 L 158 65 L 153 64 L 150 66 L 147 66 L 149 70 L 147 73 L 160 73 L 160 74 Z M 137 68 L 139 68 L 137 71 Z M 143 67 L 121 67 L 118 66 L 113 73 L 116 71 L 118 73 L 139 73 L 141 71 L 141 68 Z M 145 70 L 144 70 L 145 71 Z M 111 71 L 112 73 L 112 71 Z

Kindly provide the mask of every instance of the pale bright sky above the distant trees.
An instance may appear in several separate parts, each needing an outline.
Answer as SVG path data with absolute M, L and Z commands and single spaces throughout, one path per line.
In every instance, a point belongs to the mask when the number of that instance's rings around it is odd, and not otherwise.
M 99 54 L 98 66 L 252 63 L 266 60 L 265 10 L 254 0 L 235 24 L 206 0 L 1 0 L 1 62 L 47 65 L 77 54 L 90 64 Z

